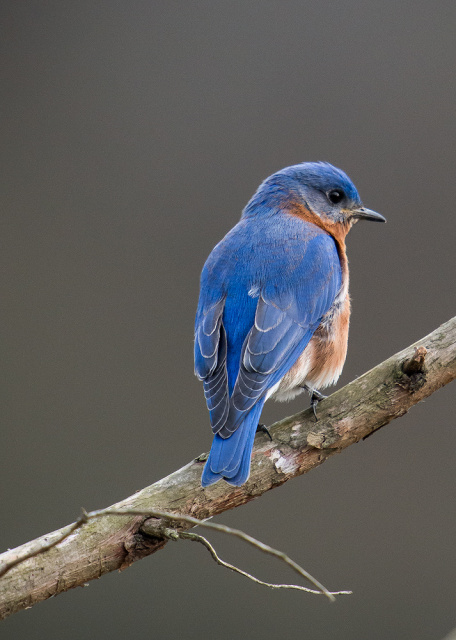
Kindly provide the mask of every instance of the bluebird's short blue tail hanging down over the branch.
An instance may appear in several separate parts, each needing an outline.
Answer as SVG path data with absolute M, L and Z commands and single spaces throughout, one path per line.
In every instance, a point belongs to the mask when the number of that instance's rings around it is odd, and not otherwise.
M 211 452 L 203 469 L 201 484 L 207 487 L 220 478 L 239 487 L 250 474 L 250 458 L 264 400 L 254 405 L 229 438 L 214 436 Z

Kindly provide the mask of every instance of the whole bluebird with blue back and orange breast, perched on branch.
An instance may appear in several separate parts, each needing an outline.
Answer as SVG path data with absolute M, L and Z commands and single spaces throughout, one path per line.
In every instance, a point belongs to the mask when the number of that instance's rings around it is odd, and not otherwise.
M 386 222 L 327 162 L 285 167 L 260 184 L 201 273 L 195 374 L 214 438 L 201 484 L 241 486 L 263 405 L 307 390 L 316 416 L 347 354 L 345 237 L 359 220 Z

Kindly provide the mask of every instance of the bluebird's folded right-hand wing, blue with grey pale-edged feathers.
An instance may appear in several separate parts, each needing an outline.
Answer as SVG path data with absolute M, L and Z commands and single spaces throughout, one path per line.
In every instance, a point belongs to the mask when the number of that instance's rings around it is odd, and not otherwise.
M 326 234 L 307 242 L 298 264 L 290 267 L 284 260 L 274 267 L 260 288 L 255 320 L 242 346 L 230 411 L 219 430 L 225 438 L 291 369 L 341 286 L 336 245 Z

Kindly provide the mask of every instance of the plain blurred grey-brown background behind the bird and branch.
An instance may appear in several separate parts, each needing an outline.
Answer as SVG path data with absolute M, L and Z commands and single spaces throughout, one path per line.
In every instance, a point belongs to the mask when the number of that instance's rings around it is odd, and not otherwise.
M 209 449 L 199 274 L 272 172 L 329 161 L 388 219 L 348 238 L 341 385 L 454 315 L 454 2 L 0 13 L 2 550 Z M 181 542 L 14 615 L 2 637 L 440 640 L 456 625 L 454 395 L 218 518 L 352 596 L 269 591 Z M 307 404 L 269 403 L 263 421 Z M 295 579 L 211 539 L 265 580 Z

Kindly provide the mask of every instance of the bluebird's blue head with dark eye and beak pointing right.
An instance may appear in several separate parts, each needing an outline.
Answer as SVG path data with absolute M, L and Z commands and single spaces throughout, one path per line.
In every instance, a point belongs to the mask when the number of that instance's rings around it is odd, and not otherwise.
M 255 203 L 256 201 L 256 203 Z M 327 162 L 303 162 L 267 178 L 246 207 L 274 202 L 280 209 L 345 233 L 358 220 L 386 222 L 379 213 L 366 209 L 346 173 Z

